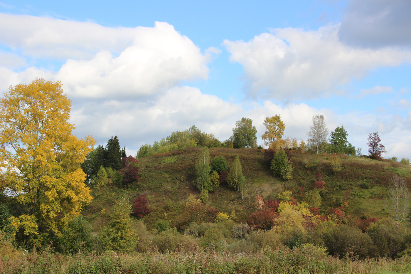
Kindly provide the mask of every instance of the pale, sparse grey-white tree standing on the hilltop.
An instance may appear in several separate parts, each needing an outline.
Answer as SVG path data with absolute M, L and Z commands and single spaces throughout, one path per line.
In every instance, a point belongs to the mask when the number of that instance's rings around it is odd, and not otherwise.
M 322 151 L 323 146 L 327 144 L 328 129 L 326 128 L 326 123 L 324 121 L 324 116 L 317 114 L 312 117 L 312 126 L 307 132 L 309 137 L 308 146 L 312 147 L 315 153 Z

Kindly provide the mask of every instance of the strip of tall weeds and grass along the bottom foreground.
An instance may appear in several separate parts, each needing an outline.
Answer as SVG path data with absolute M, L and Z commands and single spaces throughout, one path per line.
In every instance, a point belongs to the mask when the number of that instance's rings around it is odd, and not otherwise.
M 73 256 L 46 248 L 41 252 L 3 254 L 0 273 L 411 273 L 411 257 L 357 260 L 354 254 L 347 254 L 339 259 L 310 244 L 293 249 L 267 246 L 256 253 L 216 252 L 197 247 L 175 253 L 160 253 L 156 249 L 134 254 L 79 251 Z

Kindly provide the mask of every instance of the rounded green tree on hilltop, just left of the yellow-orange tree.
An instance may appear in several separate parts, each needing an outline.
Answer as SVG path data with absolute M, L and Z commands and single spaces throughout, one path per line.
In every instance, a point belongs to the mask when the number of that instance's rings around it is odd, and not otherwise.
M 236 122 L 233 128 L 233 146 L 235 149 L 240 147 L 251 148 L 254 146 L 254 139 L 257 139 L 257 130 L 253 126 L 253 120 L 242 117 Z

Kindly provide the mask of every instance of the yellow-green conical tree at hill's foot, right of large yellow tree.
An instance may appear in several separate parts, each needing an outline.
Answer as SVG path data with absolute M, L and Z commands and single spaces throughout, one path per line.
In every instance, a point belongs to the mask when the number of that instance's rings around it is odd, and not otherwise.
M 138 235 L 134 230 L 135 221 L 130 217 L 132 212 L 129 199 L 122 197 L 113 205 L 109 223 L 100 233 L 106 249 L 131 252 L 137 244 Z

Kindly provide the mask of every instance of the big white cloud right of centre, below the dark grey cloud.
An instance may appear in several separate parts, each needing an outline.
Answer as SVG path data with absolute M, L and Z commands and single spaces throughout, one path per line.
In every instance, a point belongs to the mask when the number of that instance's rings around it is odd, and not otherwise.
M 249 96 L 286 101 L 339 93 L 337 87 L 371 70 L 411 61 L 411 51 L 346 46 L 338 30 L 339 26 L 275 29 L 275 34 L 262 33 L 249 42 L 224 40 L 224 45 L 230 60 L 244 68 Z

